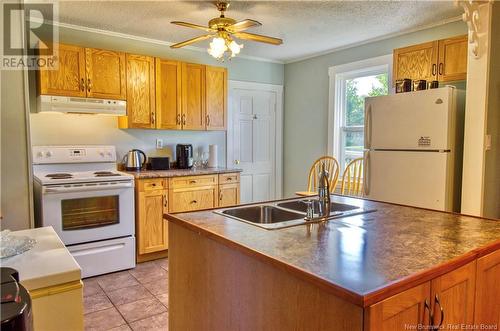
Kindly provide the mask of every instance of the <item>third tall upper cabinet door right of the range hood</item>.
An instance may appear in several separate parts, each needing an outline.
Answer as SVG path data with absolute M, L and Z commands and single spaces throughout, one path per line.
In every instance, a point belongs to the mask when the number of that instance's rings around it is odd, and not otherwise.
M 205 66 L 182 64 L 182 128 L 205 130 Z

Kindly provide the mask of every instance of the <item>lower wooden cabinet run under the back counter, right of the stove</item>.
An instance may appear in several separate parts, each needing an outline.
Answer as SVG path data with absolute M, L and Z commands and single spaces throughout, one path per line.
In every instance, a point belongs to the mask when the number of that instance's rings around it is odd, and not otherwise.
M 166 213 L 237 205 L 238 173 L 136 180 L 137 261 L 166 256 Z

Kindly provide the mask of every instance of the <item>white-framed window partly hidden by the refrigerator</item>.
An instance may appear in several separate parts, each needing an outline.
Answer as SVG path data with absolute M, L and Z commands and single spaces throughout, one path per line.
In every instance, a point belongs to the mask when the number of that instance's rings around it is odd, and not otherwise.
M 389 93 L 391 56 L 332 67 L 329 100 L 329 152 L 341 169 L 363 157 L 364 99 Z

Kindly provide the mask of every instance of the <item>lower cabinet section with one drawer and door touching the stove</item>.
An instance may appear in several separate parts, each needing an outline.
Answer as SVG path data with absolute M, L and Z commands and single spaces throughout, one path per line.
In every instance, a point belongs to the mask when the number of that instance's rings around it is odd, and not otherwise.
M 136 181 L 136 236 L 138 260 L 168 249 L 168 189 L 165 179 Z

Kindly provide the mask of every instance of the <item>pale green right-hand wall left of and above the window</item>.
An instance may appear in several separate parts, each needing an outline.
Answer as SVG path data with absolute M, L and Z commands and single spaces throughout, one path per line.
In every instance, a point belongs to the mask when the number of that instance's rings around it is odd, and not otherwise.
M 306 189 L 312 162 L 327 153 L 328 68 L 391 54 L 394 48 L 467 33 L 454 22 L 285 65 L 284 195 Z

